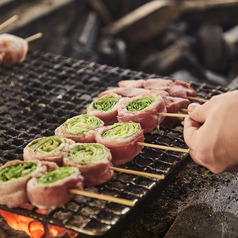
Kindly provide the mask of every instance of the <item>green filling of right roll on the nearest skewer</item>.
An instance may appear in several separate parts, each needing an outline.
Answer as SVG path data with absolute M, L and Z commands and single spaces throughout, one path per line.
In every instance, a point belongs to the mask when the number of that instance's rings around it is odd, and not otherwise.
M 48 173 L 45 173 L 41 177 L 37 178 L 36 181 L 39 184 L 51 184 L 58 180 L 64 179 L 76 172 L 74 167 L 59 167 Z

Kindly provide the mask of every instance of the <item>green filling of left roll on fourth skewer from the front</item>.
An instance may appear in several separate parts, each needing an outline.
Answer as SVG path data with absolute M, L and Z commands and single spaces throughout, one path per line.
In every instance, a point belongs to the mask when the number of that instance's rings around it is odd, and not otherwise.
M 106 96 L 93 102 L 92 106 L 95 110 L 107 112 L 113 109 L 118 102 L 118 97 Z

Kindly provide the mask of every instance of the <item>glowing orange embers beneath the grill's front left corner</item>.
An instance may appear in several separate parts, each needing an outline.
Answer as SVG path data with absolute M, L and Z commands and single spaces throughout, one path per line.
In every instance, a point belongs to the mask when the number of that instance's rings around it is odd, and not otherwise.
M 31 238 L 55 237 L 68 233 L 71 238 L 75 238 L 77 233 L 68 231 L 65 228 L 48 224 L 47 227 L 43 223 L 33 218 L 18 215 L 0 209 L 0 214 L 6 220 L 8 225 L 15 230 L 25 231 Z

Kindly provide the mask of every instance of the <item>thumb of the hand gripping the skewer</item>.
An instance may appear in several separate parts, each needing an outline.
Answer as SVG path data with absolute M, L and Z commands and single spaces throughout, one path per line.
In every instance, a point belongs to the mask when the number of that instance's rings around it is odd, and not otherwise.
M 206 104 L 206 103 L 205 103 Z M 191 103 L 188 106 L 188 115 L 196 122 L 204 123 L 206 120 L 206 106 L 198 103 Z

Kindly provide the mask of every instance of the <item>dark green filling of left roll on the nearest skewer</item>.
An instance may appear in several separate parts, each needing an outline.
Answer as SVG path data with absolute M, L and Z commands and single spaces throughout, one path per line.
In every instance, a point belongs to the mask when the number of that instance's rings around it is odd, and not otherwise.
M 35 171 L 36 168 L 37 165 L 34 162 L 24 162 L 6 166 L 0 170 L 0 181 L 6 182 L 13 178 L 28 176 Z

